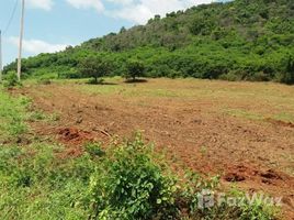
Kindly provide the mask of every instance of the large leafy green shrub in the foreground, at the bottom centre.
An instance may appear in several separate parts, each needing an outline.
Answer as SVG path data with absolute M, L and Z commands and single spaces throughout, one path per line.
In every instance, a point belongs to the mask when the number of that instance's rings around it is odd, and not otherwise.
M 93 218 L 169 219 L 177 215 L 176 180 L 162 174 L 152 154 L 152 148 L 136 138 L 106 157 L 91 177 Z

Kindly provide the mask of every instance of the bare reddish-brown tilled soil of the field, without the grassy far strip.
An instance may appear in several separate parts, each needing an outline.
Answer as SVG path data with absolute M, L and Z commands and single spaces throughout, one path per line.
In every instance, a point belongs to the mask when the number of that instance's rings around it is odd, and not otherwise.
M 53 84 L 22 90 L 33 98 L 36 109 L 60 114 L 54 124 L 37 122 L 32 127 L 68 145 L 67 155 L 80 155 L 83 142 L 105 143 L 111 136 L 129 136 L 139 130 L 147 141 L 167 152 L 176 168 L 220 174 L 224 186 L 235 183 L 245 190 L 283 197 L 285 218 L 294 219 L 293 124 L 267 118 L 247 120 L 219 111 L 224 105 L 268 108 L 263 103 L 229 97 L 224 101 L 217 94 L 213 100 L 94 95 L 79 87 Z

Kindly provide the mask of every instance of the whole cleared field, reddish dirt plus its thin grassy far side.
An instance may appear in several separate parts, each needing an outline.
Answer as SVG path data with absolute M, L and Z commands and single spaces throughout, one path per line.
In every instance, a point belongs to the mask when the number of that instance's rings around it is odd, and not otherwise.
M 142 131 L 176 170 L 222 175 L 223 185 L 282 196 L 294 216 L 294 87 L 267 82 L 150 79 L 108 85 L 63 81 L 22 94 L 59 118 L 32 123 L 44 136 L 81 154 L 84 141 L 109 142 Z

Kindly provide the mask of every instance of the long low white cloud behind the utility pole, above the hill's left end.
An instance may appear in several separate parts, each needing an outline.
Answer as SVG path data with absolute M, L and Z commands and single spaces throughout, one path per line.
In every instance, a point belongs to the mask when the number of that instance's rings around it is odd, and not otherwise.
M 19 37 L 11 36 L 9 37 L 9 42 L 14 46 L 19 46 Z M 67 46 L 68 44 L 50 44 L 41 40 L 23 41 L 23 51 L 33 55 L 64 51 Z

